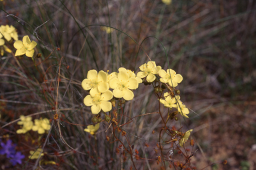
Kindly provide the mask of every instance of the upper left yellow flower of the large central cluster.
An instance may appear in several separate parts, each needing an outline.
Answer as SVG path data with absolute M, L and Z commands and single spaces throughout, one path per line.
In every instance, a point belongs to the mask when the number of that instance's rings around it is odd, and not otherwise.
M 84 90 L 90 90 L 90 94 L 99 91 L 101 93 L 107 92 L 109 90 L 109 84 L 107 83 L 107 73 L 96 70 L 89 70 L 87 73 L 87 78 L 83 80 L 81 84 Z

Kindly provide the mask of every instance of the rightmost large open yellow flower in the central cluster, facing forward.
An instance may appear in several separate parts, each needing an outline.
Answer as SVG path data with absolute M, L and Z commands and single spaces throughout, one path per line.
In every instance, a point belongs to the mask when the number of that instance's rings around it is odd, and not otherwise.
M 138 88 L 139 83 L 136 78 L 129 78 L 129 74 L 127 72 L 121 71 L 118 73 L 117 77 L 110 80 L 109 86 L 114 89 L 113 96 L 116 98 L 132 100 L 134 94 L 131 90 Z

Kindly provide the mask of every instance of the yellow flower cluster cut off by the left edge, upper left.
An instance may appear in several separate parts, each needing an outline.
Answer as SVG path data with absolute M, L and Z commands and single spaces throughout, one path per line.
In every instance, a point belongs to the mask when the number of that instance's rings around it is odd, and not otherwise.
M 11 50 L 5 45 L 5 40 L 11 42 L 18 40 L 18 33 L 13 25 L 1 25 L 0 26 L 0 54 L 3 56 L 4 52 L 11 53 Z

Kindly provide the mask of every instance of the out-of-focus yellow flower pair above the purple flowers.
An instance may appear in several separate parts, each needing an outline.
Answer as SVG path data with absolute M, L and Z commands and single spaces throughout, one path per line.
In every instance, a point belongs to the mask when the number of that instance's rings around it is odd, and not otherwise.
M 22 125 L 21 129 L 18 129 L 17 133 L 27 133 L 29 130 L 37 131 L 39 134 L 43 134 L 51 128 L 50 122 L 47 118 L 40 118 L 39 120 L 35 119 L 35 124 L 32 122 L 31 116 L 20 116 L 21 121 L 17 124 Z

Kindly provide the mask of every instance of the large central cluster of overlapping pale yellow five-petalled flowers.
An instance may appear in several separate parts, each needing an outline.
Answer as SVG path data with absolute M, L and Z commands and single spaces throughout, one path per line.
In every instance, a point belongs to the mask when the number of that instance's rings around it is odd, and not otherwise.
M 134 97 L 133 91 L 138 88 L 142 80 L 137 78 L 131 70 L 119 68 L 119 73 L 89 70 L 87 78 L 83 80 L 81 86 L 84 90 L 90 90 L 83 102 L 85 106 L 91 106 L 92 114 L 109 112 L 112 109 L 112 104 L 109 102 L 113 98 L 124 98 L 132 100 Z M 109 90 L 113 89 L 113 92 Z

